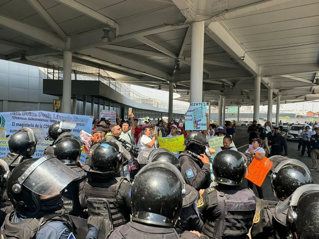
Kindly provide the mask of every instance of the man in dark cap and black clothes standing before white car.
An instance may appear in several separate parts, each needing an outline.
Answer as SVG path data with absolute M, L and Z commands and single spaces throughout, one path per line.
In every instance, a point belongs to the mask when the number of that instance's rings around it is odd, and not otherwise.
M 279 127 L 274 128 L 275 133 L 269 138 L 268 145 L 271 145 L 270 156 L 279 155 L 279 156 L 288 156 L 288 147 L 285 137 L 281 135 L 281 130 Z M 284 153 L 285 150 L 285 153 Z

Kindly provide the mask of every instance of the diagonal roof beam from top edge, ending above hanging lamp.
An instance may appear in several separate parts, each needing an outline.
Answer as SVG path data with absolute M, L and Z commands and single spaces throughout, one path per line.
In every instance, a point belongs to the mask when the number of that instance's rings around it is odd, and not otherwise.
M 109 25 L 109 26 L 116 28 L 116 32 L 117 32 L 117 34 L 119 34 L 119 25 L 111 18 L 108 18 L 108 17 L 98 13 L 97 11 L 94 11 L 91 8 L 88 8 L 85 5 L 80 4 L 74 0 L 56 0 L 56 2 L 62 3 L 63 5 L 68 6 L 72 9 L 74 9 L 75 11 L 81 12 L 82 14 L 84 14 L 90 18 L 93 18 L 93 19 L 95 19 L 95 20 L 97 20 L 105 25 Z

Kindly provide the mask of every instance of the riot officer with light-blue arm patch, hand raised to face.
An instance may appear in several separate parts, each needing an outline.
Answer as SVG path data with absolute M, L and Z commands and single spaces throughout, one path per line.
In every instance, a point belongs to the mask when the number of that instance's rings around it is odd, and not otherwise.
M 206 136 L 192 131 L 186 135 L 184 144 L 186 148 L 178 159 L 185 182 L 196 190 L 208 188 L 211 184 L 209 159 L 200 156 L 209 152 Z

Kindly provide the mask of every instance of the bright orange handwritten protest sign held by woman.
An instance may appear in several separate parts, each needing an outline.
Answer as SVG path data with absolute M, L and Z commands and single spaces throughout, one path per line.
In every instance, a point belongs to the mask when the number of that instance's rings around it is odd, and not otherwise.
M 258 154 L 258 152 L 256 152 L 256 154 Z M 258 160 L 255 156 L 253 161 L 248 166 L 249 175 L 247 174 L 247 172 L 245 175 L 248 180 L 258 185 L 259 187 L 263 184 L 263 181 L 265 180 L 267 173 L 272 166 L 272 162 L 267 160 L 268 158 L 266 157 L 264 157 L 263 160 Z

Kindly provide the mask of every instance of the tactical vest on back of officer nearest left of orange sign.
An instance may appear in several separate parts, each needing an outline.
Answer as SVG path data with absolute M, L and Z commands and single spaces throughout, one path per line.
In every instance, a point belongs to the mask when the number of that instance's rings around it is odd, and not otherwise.
M 206 221 L 203 234 L 214 239 L 246 238 L 256 210 L 254 192 L 249 188 L 241 188 L 239 191 L 223 189 L 223 192 L 216 188 L 210 192 L 206 190 L 208 195 L 215 191 L 221 214 L 217 219 Z

